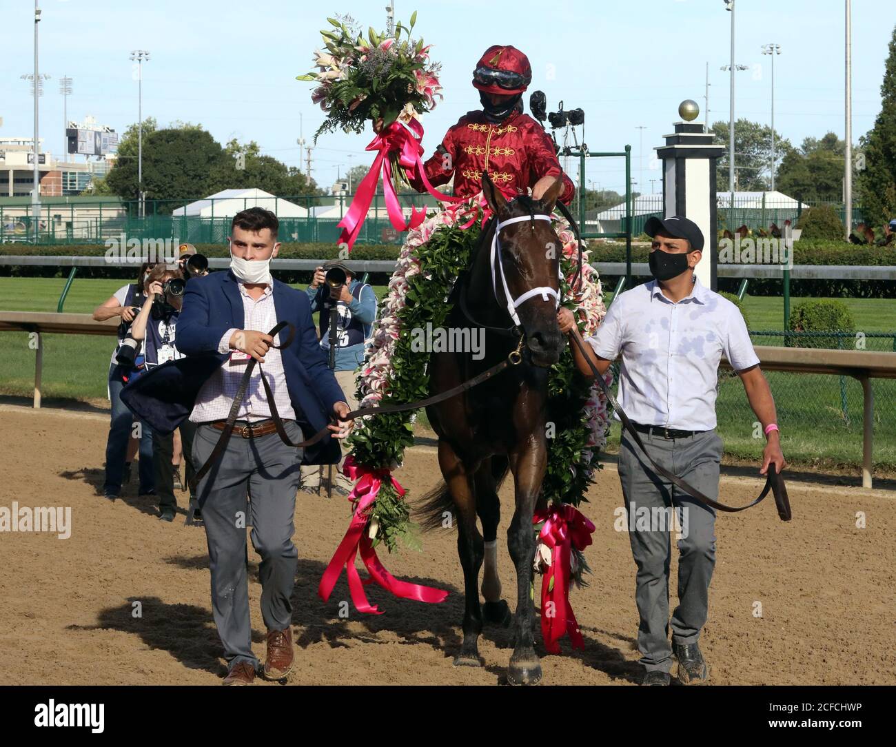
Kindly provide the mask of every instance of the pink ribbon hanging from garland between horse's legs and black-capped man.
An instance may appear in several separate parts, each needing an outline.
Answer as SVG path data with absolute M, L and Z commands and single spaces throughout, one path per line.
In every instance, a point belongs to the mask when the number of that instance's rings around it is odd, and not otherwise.
M 545 648 L 550 654 L 559 654 L 559 640 L 564 633 L 569 633 L 573 648 L 585 648 L 573 605 L 569 603 L 569 581 L 573 547 L 581 552 L 591 544 L 594 524 L 569 504 L 536 511 L 532 523 L 539 521 L 545 524 L 538 539 L 551 548 L 551 565 L 541 580 L 541 636 Z

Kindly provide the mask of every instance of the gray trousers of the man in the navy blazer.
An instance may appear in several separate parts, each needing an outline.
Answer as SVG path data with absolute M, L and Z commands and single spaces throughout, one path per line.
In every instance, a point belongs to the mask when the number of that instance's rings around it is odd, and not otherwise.
M 238 421 L 237 421 L 238 422 Z M 294 420 L 284 421 L 289 439 L 302 441 Z M 221 432 L 200 425 L 193 442 L 196 468 L 202 467 Z M 268 630 L 283 631 L 292 621 L 292 596 L 298 553 L 292 543 L 293 515 L 302 450 L 287 446 L 276 433 L 259 438 L 233 434 L 227 449 L 197 485 L 202 523 L 209 545 L 211 606 L 228 666 L 254 666 L 252 621 L 246 578 L 246 527 L 252 527 L 255 552 L 262 556 L 262 617 Z M 246 492 L 251 501 L 246 500 Z M 248 511 L 248 512 L 247 512 Z

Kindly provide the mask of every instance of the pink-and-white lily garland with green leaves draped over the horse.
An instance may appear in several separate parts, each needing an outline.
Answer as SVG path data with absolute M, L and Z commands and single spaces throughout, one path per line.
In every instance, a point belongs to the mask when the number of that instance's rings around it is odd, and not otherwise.
M 426 357 L 411 352 L 406 331 L 424 327 L 426 322 L 434 328 L 444 326 L 451 311 L 445 299 L 454 280 L 469 266 L 486 211 L 480 193 L 435 212 L 409 232 L 361 369 L 360 407 L 427 396 Z M 583 251 L 582 290 L 573 301 L 570 283 L 577 269 L 578 245 L 565 221 L 557 219 L 555 227 L 563 242 L 560 263 L 564 305 L 576 314 L 580 331 L 588 336 L 606 313 L 598 273 L 588 264 L 588 252 Z M 607 373 L 605 381 L 612 382 L 612 374 Z M 548 396 L 548 411 L 566 415 L 555 424 L 554 437 L 548 441 L 542 491 L 553 504 L 578 505 L 585 500 L 594 470 L 600 468 L 598 452 L 607 442 L 606 399 L 596 382 L 592 385 L 577 374 L 569 348 L 564 348 L 560 361 L 552 366 Z M 366 468 L 397 469 L 404 450 L 414 441 L 413 417 L 405 412 L 363 418 L 349 439 L 353 459 Z M 383 483 L 369 517 L 375 529 L 374 545 L 383 542 L 390 552 L 397 549 L 399 539 L 406 545 L 417 545 L 409 506 L 390 482 Z

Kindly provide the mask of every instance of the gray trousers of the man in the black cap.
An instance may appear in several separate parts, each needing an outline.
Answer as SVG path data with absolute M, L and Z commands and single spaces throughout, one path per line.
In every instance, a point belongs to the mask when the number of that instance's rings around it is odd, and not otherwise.
M 712 499 L 719 496 L 722 440 L 715 431 L 689 438 L 641 435 L 650 456 Z M 656 475 L 641 449 L 625 435 L 619 449 L 619 480 L 625 498 L 629 540 L 638 566 L 635 602 L 641 623 L 638 650 L 650 670 L 672 666 L 669 628 L 670 529 L 678 545 L 678 606 L 672 614 L 672 641 L 696 643 L 706 622 L 710 580 L 716 562 L 716 512 Z M 672 506 L 678 528 L 672 528 Z M 665 520 L 664 520 L 665 519 Z

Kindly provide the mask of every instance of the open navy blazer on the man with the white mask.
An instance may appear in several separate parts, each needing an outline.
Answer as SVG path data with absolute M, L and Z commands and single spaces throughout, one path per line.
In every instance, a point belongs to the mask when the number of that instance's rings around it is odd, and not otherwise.
M 274 279 L 273 295 L 277 322 L 290 322 L 296 328 L 292 343 L 280 356 L 289 401 L 305 438 L 309 438 L 330 422 L 333 405 L 345 401 L 345 395 L 319 345 L 306 294 Z M 229 353 L 218 352 L 220 339 L 229 329 L 242 330 L 243 324 L 243 298 L 230 270 L 190 279 L 175 339 L 177 349 L 186 357 L 128 382 L 121 392 L 122 401 L 153 430 L 171 433 L 190 416 L 202 384 L 226 365 Z M 280 331 L 280 340 L 286 341 L 287 334 L 288 328 Z M 329 435 L 306 449 L 302 459 L 305 464 L 335 464 L 339 460 L 339 442 Z

